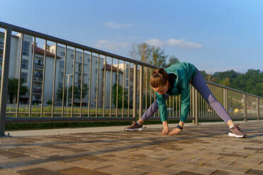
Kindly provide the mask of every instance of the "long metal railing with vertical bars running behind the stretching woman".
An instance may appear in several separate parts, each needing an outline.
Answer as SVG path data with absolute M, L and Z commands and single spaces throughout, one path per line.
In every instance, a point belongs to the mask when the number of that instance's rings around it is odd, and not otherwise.
M 135 120 L 156 100 L 155 92 L 149 83 L 153 68 L 156 66 L 8 23 L 0 22 L 0 28 L 5 30 L 0 94 L 0 135 L 4 135 L 6 123 Z M 16 51 L 19 54 L 16 60 L 19 63 L 18 73 L 12 75 L 18 78 L 18 94 L 16 104 L 6 104 L 9 61 L 13 52 L 12 32 L 20 34 L 20 37 L 16 37 L 17 48 L 20 48 Z M 26 85 L 30 90 L 27 93 L 27 101 L 26 95 L 20 95 L 20 91 L 23 86 L 21 85 L 23 40 L 29 36 L 33 38 L 33 51 L 28 58 L 28 63 L 32 65 L 28 66 L 27 70 L 23 70 L 30 75 L 29 84 Z M 36 40 L 45 43 L 42 55 L 44 64 L 42 70 L 37 70 L 38 73 L 42 71 L 43 77 L 40 78 L 40 82 L 34 81 L 37 78 L 34 77 L 36 64 L 33 64 L 37 54 Z M 47 45 L 49 42 L 53 43 L 51 47 Z M 62 52 L 64 52 L 63 56 L 59 57 L 57 54 Z M 37 59 L 40 59 L 39 55 Z M 64 61 L 64 66 L 57 66 L 58 61 Z M 33 104 L 36 98 L 33 93 L 36 92 L 33 89 L 34 83 L 42 83 L 42 88 L 37 86 L 37 92 L 41 90 L 37 93 L 41 95 L 40 105 Z M 59 84 L 62 83 L 63 87 L 59 89 Z M 262 116 L 260 113 L 263 111 L 262 97 L 211 82 L 207 84 L 233 119 L 247 121 L 247 119 L 260 119 Z M 47 97 L 49 97 L 48 102 Z M 190 86 L 190 97 L 189 120 L 198 123 L 198 119 L 219 119 L 216 112 L 192 86 Z M 168 119 L 179 120 L 180 96 L 170 96 L 167 107 Z M 151 119 L 158 119 L 158 112 Z

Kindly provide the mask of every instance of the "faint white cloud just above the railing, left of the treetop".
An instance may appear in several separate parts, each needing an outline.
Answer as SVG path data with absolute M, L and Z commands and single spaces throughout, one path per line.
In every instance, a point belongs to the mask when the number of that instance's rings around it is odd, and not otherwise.
M 107 49 L 111 51 L 118 51 L 121 49 L 125 49 L 128 46 L 125 42 L 110 42 L 108 40 L 98 40 L 96 47 L 100 49 Z

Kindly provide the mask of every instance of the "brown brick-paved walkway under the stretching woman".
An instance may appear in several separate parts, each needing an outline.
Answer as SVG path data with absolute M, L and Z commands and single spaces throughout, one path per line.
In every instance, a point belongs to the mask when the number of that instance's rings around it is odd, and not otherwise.
M 151 126 L 141 132 L 11 132 L 17 136 L 0 138 L 0 174 L 263 174 L 263 121 L 240 127 L 248 138 L 229 138 L 224 123 L 187 125 L 176 136 Z

